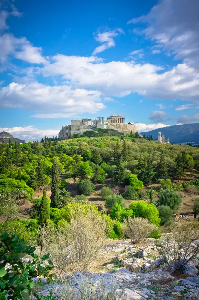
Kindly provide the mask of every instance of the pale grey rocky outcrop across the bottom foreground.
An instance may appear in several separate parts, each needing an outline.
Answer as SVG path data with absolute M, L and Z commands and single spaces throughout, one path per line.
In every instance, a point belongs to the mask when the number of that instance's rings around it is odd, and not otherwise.
M 154 239 L 144 240 L 143 246 L 129 240 L 106 245 L 103 255 L 111 253 L 115 256 L 108 271 L 66 274 L 61 283 L 46 284 L 40 295 L 52 291 L 57 300 L 199 300 L 199 276 L 190 272 L 187 277 L 175 277 L 157 253 Z M 188 266 L 198 269 L 199 257 Z

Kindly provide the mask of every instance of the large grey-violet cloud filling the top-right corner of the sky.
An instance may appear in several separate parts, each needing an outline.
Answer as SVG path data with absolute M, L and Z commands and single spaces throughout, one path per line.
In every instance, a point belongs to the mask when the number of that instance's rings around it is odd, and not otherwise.
M 199 1 L 161 0 L 147 15 L 128 23 L 146 23 L 142 32 L 164 51 L 199 68 Z

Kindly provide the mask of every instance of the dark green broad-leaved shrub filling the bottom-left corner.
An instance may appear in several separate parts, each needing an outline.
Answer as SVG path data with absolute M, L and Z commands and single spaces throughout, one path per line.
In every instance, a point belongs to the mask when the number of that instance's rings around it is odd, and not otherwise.
M 0 237 L 1 255 L 0 255 L 0 299 L 29 299 L 29 292 L 33 285 L 33 277 L 44 276 L 48 280 L 52 278 L 49 272 L 53 269 L 53 265 L 49 256 L 45 255 L 39 260 L 35 254 L 35 248 L 26 246 L 24 240 L 21 239 L 16 232 L 12 232 L 11 236 L 7 232 L 3 232 Z M 27 263 L 22 258 L 29 255 Z M 48 264 L 44 261 L 48 260 Z M 9 267 L 5 269 L 5 266 Z M 36 299 L 40 296 L 34 293 Z M 54 299 L 52 295 L 46 296 L 45 299 Z

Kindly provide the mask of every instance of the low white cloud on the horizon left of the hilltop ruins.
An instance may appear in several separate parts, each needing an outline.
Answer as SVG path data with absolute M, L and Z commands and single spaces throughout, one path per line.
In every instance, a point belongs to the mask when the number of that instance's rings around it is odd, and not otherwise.
M 13 135 L 14 137 L 18 137 L 22 140 L 37 140 L 41 139 L 45 135 L 47 137 L 58 136 L 59 130 L 56 129 L 37 129 L 34 126 L 27 127 L 13 127 L 13 128 L 0 128 L 0 132 L 5 131 Z

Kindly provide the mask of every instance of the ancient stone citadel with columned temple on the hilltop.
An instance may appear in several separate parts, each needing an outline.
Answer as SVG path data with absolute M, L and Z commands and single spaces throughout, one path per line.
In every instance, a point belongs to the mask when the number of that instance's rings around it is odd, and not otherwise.
M 59 139 L 68 139 L 74 134 L 82 135 L 85 131 L 97 130 L 97 129 L 114 129 L 123 133 L 135 133 L 137 127 L 133 123 L 125 123 L 125 117 L 119 114 L 113 114 L 107 117 L 104 121 L 104 117 L 98 117 L 97 119 L 72 120 L 71 125 L 62 126 L 59 132 Z

